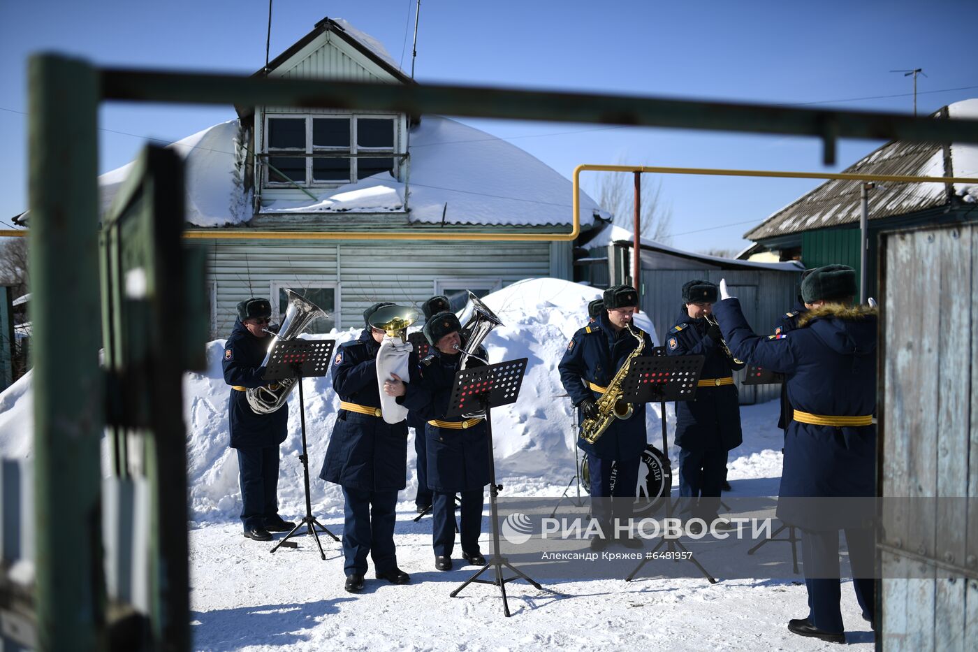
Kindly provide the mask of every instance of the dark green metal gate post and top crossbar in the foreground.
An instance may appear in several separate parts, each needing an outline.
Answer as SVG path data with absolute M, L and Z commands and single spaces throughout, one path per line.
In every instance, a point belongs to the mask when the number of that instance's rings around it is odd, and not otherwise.
M 99 460 L 106 423 L 106 375 L 98 359 L 102 311 L 96 129 L 101 102 L 357 108 L 412 115 L 803 134 L 822 139 L 824 163 L 834 162 L 838 138 L 978 143 L 978 120 L 875 112 L 506 88 L 99 70 L 59 55 L 33 57 L 28 76 L 36 353 L 36 615 L 39 647 L 44 650 L 100 649 L 107 641 Z M 575 228 L 577 219 L 574 215 Z M 479 234 L 471 236 L 479 239 Z M 439 239 L 440 234 L 425 230 L 417 237 Z M 573 231 L 549 239 L 572 238 Z M 66 533 L 70 541 L 65 540 Z M 172 605 L 185 602 L 184 596 Z M 162 608 L 172 605 L 167 602 Z M 167 614 L 171 621 L 186 617 L 186 613 Z

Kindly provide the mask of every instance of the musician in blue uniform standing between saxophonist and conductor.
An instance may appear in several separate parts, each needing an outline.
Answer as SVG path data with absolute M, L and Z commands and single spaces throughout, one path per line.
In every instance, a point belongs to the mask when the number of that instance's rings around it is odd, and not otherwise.
M 705 355 L 694 400 L 676 401 L 679 492 L 694 498 L 689 508 L 707 523 L 716 518 L 727 478 L 727 453 L 743 442 L 740 405 L 732 372 L 742 369 L 721 343 L 720 327 L 708 319 L 717 286 L 694 279 L 683 286 L 683 307 L 666 336 L 669 355 Z

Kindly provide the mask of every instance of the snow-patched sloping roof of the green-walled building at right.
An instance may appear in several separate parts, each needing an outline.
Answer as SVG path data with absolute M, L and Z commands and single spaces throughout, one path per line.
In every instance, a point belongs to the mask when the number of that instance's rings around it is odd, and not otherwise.
M 936 112 L 936 118 L 978 117 L 978 99 L 962 100 Z M 848 173 L 978 177 L 978 145 L 892 141 L 847 167 Z M 961 201 L 978 202 L 978 184 L 953 184 Z M 869 219 L 902 215 L 948 204 L 944 183 L 877 183 L 869 193 Z M 829 180 L 770 215 L 744 234 L 762 240 L 800 231 L 858 222 L 860 182 Z

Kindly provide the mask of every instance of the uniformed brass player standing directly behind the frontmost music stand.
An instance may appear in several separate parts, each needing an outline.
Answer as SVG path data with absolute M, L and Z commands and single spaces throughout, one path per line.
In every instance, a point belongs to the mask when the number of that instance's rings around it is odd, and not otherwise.
M 431 352 L 420 365 L 417 382 L 387 383 L 384 391 L 398 398 L 409 410 L 423 410 L 425 447 L 427 452 L 427 481 L 433 493 L 431 536 L 435 568 L 452 569 L 455 548 L 455 494 L 461 497 L 462 557 L 469 564 L 482 566 L 485 557 L 479 550 L 482 532 L 482 507 L 485 487 L 489 484 L 489 438 L 482 417 L 448 418 L 455 375 L 460 370 L 463 347 L 462 325 L 454 312 L 431 315 L 424 323 L 424 337 Z M 485 359 L 482 347 L 472 351 Z M 481 363 L 468 358 L 466 367 Z

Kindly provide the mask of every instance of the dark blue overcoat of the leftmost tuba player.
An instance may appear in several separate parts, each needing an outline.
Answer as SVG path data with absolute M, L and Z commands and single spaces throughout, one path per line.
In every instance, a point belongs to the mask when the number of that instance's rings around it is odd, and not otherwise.
M 235 321 L 224 345 L 224 382 L 244 388 L 268 385 L 262 380 L 265 368 L 261 363 L 271 343 L 271 337 L 256 338 L 244 327 L 241 319 Z M 255 414 L 247 404 L 244 392 L 232 389 L 228 398 L 228 420 L 231 424 L 232 448 L 277 446 L 286 441 L 289 407 L 280 407 L 271 414 Z

